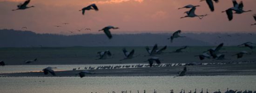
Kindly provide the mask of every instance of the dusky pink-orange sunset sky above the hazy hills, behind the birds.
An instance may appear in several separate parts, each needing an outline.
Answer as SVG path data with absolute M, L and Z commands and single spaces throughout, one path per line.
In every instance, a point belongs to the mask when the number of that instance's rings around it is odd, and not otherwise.
M 214 3 L 214 12 L 210 12 L 206 2 L 200 0 L 31 0 L 28 6 L 35 7 L 12 11 L 24 1 L 0 0 L 0 29 L 82 34 L 102 33 L 98 30 L 106 26 L 114 26 L 120 29 L 111 30 L 112 33 L 161 33 L 176 30 L 195 33 L 256 32 L 256 26 L 250 26 L 256 23 L 252 17 L 256 13 L 256 0 L 243 0 L 244 10 L 252 10 L 252 12 L 234 14 L 232 21 L 227 19 L 225 13 L 221 13 L 233 6 L 232 0 L 220 0 L 219 3 Z M 82 15 L 79 10 L 92 3 L 98 6 L 99 11 L 90 10 Z M 189 9 L 178 10 L 178 8 L 188 4 L 201 6 L 195 10 L 196 14 L 209 15 L 202 20 L 197 17 L 180 19 Z M 77 31 L 82 28 L 92 30 Z

